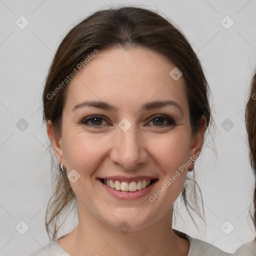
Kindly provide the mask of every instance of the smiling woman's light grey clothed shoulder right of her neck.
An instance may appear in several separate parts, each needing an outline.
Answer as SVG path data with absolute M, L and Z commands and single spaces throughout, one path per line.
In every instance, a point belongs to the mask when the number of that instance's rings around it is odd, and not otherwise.
M 232 253 L 225 252 L 208 242 L 205 242 L 205 241 L 202 241 L 202 240 L 199 240 L 196 238 L 192 238 L 189 235 L 187 235 L 183 232 L 177 231 L 177 230 L 173 230 L 173 231 L 178 236 L 189 241 L 190 245 L 189 245 L 189 251 L 188 251 L 187 256 L 198 256 L 198 255 L 200 255 L 200 256 L 216 256 L 216 255 L 217 256 L 228 256 L 228 255 L 230 255 L 231 256 L 231 255 L 233 255 Z

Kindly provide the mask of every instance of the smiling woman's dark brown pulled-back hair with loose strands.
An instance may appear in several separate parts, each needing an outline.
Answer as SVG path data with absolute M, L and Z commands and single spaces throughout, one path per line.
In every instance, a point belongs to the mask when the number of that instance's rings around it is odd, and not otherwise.
M 45 122 L 51 120 L 55 134 L 61 134 L 62 109 L 67 85 L 61 86 L 61 90 L 54 93 L 51 99 L 49 95 L 52 95 L 53 90 L 63 82 L 66 75 L 71 73 L 88 54 L 95 49 L 100 52 L 115 47 L 144 47 L 172 61 L 182 71 L 186 82 L 192 134 L 198 131 L 202 115 L 206 119 L 205 128 L 208 128 L 211 122 L 209 87 L 200 62 L 187 39 L 167 18 L 148 9 L 130 6 L 92 13 L 75 25 L 61 41 L 48 71 L 43 91 L 43 119 Z M 53 233 L 51 232 L 53 239 L 59 228 L 56 225 L 59 214 L 76 199 L 66 175 L 60 173 L 58 168 L 54 175 L 57 184 L 48 202 L 45 216 L 48 235 L 49 225 L 54 226 Z M 189 180 L 187 178 L 187 181 Z M 194 206 L 188 203 L 186 186 L 187 183 L 181 192 L 185 207 L 187 210 L 195 210 L 200 216 L 197 211 L 198 201 L 194 200 Z M 199 189 L 194 181 L 194 193 L 196 187 Z M 191 198 L 196 197 L 193 194 Z

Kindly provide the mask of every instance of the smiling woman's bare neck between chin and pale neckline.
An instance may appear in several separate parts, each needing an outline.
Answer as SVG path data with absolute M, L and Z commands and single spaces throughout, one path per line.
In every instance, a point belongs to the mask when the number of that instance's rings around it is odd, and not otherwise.
M 79 205 L 78 205 L 79 206 Z M 172 231 L 172 207 L 158 221 L 136 231 L 121 232 L 78 207 L 78 225 L 57 243 L 70 255 L 182 255 L 189 242 Z

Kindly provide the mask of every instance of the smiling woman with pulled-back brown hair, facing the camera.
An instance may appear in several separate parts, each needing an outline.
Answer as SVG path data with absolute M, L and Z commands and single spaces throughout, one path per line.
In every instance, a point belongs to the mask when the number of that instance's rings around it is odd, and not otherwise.
M 157 13 L 107 9 L 74 26 L 43 91 L 61 172 L 45 220 L 53 241 L 32 256 L 229 255 L 172 229 L 180 193 L 190 207 L 187 171 L 211 121 L 208 93 L 190 44 Z M 55 240 L 72 201 L 78 225 Z

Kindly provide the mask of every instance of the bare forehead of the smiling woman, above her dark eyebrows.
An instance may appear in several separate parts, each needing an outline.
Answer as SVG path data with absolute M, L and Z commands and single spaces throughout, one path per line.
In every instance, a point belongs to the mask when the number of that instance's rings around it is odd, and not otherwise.
M 171 99 L 188 107 L 185 81 L 169 72 L 175 64 L 145 48 L 99 51 L 68 84 L 67 105 L 84 99 L 101 99 L 117 106 Z

